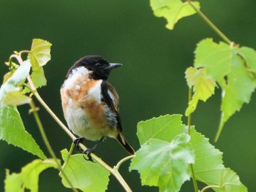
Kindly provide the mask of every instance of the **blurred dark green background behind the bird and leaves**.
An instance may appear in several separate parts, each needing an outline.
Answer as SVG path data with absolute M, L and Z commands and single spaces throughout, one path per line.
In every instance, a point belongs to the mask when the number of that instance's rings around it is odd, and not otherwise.
M 200 1 L 202 11 L 227 37 L 240 45 L 256 48 L 255 0 Z M 52 59 L 45 66 L 48 85 L 39 89 L 42 98 L 64 121 L 59 88 L 69 67 L 84 55 L 102 55 L 110 62 L 124 66 L 113 70 L 110 82 L 120 99 L 124 135 L 138 149 L 136 125 L 140 120 L 159 115 L 180 113 L 187 107 L 187 85 L 184 71 L 192 65 L 193 51 L 200 39 L 213 37 L 213 31 L 193 15 L 184 18 L 174 31 L 165 28 L 163 18 L 155 18 L 149 1 L 89 1 L 89 0 L 0 0 L 0 76 L 7 72 L 7 61 L 13 50 L 28 50 L 34 38 L 53 44 Z M 220 91 L 192 115 L 197 131 L 213 143 L 219 123 Z M 28 106 L 19 107 L 26 130 L 33 135 L 49 156 Z M 241 177 L 249 191 L 256 191 L 256 98 L 244 105 L 231 118 L 216 146 L 224 152 L 225 166 Z M 69 148 L 71 139 L 42 109 L 39 111 L 51 145 L 59 151 Z M 186 118 L 183 118 L 186 123 Z M 92 145 L 91 143 L 89 145 Z M 115 165 L 127 153 L 114 139 L 107 139 L 97 150 L 104 161 Z M 0 142 L 0 191 L 4 190 L 5 169 L 20 172 L 20 168 L 35 157 L 18 147 Z M 148 161 L 151 161 L 148 159 Z M 137 172 L 128 172 L 129 163 L 121 166 L 121 174 L 133 191 L 158 191 L 140 186 Z M 86 173 L 85 173 L 86 174 Z M 100 182 L 100 181 L 99 181 Z M 181 191 L 192 191 L 187 182 Z M 110 176 L 108 191 L 123 191 Z M 70 191 L 61 185 L 58 172 L 48 169 L 39 180 L 39 191 Z

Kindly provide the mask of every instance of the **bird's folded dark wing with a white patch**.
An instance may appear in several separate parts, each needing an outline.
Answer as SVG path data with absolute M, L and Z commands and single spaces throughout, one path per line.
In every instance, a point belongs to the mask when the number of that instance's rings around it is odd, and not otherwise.
M 118 93 L 115 88 L 108 81 L 102 81 L 102 101 L 108 104 L 110 110 L 116 114 L 117 128 L 121 132 L 123 130 L 121 126 L 121 119 L 118 112 Z

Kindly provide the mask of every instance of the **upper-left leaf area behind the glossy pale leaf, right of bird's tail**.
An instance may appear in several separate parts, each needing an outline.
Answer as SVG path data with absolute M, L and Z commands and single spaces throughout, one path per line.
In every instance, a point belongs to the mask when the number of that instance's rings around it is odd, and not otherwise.
M 160 139 L 170 142 L 178 134 L 183 133 L 185 126 L 181 122 L 181 115 L 165 115 L 138 123 L 138 138 L 140 145 L 149 139 Z

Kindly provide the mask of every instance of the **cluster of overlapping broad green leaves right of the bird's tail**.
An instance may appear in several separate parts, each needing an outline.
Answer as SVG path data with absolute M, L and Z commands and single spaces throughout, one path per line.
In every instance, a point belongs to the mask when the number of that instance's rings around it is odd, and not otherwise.
M 142 147 L 135 153 L 130 169 L 140 172 L 143 185 L 159 186 L 160 191 L 179 191 L 190 178 L 189 164 L 194 164 L 195 178 L 200 182 L 214 186 L 229 183 L 233 172 L 225 176 L 225 181 L 219 180 L 226 169 L 222 153 L 195 128 L 190 130 L 191 139 L 184 135 L 187 127 L 182 124 L 181 115 L 165 115 L 138 123 Z M 236 179 L 233 190 L 245 188 L 238 177 Z

